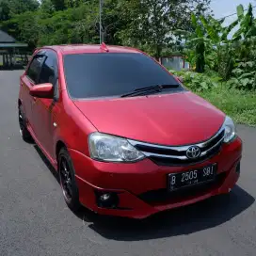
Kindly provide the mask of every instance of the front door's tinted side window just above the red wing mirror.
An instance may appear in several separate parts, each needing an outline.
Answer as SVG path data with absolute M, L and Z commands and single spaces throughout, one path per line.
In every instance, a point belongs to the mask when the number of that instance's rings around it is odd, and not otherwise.
M 56 87 L 57 58 L 54 52 L 47 52 L 40 71 L 39 84 L 51 83 Z

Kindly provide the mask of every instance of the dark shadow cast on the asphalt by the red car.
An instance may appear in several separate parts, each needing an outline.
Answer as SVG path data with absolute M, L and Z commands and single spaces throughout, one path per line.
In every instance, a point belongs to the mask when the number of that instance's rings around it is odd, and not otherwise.
M 55 168 L 40 151 L 40 158 L 56 177 Z M 117 241 L 138 241 L 200 232 L 219 226 L 246 211 L 255 199 L 239 185 L 229 195 L 203 200 L 182 208 L 162 212 L 137 220 L 116 216 L 99 216 L 82 208 L 73 214 L 88 224 L 88 228 L 104 238 Z

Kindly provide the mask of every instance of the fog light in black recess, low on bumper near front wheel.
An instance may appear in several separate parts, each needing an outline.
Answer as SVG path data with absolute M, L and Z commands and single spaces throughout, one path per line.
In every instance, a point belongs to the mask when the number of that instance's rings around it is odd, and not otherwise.
M 114 209 L 119 205 L 119 196 L 114 192 L 95 191 L 96 203 L 98 207 Z

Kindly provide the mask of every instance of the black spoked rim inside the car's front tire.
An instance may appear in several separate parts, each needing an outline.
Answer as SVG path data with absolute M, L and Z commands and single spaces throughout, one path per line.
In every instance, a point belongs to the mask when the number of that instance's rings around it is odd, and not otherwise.
M 59 176 L 65 200 L 72 200 L 72 175 L 68 161 L 65 157 L 61 157 L 59 161 Z

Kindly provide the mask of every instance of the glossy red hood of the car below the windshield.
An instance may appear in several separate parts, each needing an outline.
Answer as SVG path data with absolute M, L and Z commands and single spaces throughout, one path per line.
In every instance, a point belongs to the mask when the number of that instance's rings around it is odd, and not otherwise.
M 225 115 L 190 91 L 110 100 L 75 100 L 99 132 L 162 145 L 214 136 Z

